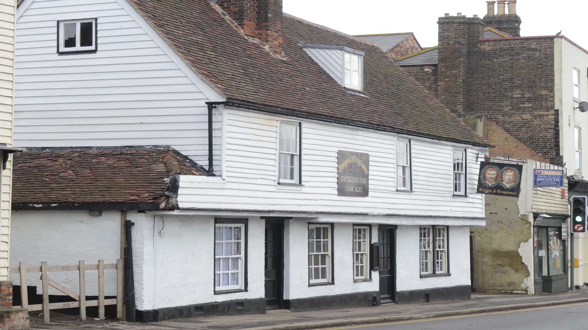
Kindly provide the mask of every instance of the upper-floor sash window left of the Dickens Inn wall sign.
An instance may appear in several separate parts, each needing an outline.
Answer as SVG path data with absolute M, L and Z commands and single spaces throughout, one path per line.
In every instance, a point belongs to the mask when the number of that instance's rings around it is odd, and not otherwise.
M 279 182 L 300 183 L 300 123 L 280 123 Z

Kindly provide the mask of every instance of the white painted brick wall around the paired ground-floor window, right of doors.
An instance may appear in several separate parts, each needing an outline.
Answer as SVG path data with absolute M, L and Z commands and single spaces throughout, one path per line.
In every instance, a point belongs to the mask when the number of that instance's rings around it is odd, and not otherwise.
M 396 233 L 396 289 L 470 285 L 470 230 L 467 226 L 449 227 L 449 271 L 451 276 L 420 278 L 419 226 L 399 225 Z

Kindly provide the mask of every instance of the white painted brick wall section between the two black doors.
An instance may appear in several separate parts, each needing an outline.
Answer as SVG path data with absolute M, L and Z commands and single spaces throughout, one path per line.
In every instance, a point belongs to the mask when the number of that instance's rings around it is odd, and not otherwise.
M 285 228 L 284 298 L 298 299 L 352 292 L 378 291 L 378 273 L 372 272 L 371 282 L 353 282 L 353 225 L 335 223 L 335 284 L 308 285 L 308 222 L 289 220 Z M 377 225 L 372 228 L 372 242 L 377 241 Z M 418 243 L 417 243 L 418 244 Z M 416 267 L 416 266 L 415 266 Z

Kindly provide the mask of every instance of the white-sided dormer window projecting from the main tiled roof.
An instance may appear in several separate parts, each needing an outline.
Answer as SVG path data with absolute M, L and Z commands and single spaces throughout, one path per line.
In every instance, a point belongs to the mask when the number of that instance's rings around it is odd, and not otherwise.
M 345 46 L 308 45 L 306 43 L 299 43 L 299 46 L 339 85 L 363 91 L 364 52 Z

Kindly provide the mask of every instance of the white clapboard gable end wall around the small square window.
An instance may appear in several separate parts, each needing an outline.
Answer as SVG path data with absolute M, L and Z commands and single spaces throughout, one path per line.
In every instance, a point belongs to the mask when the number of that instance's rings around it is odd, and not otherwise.
M 56 53 L 56 22 L 98 19 L 98 51 Z M 124 0 L 25 0 L 16 23 L 15 144 L 164 144 L 208 164 L 219 95 Z M 215 166 L 222 115 L 213 116 Z

